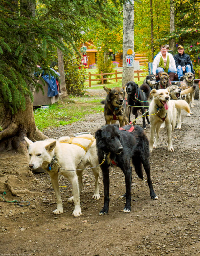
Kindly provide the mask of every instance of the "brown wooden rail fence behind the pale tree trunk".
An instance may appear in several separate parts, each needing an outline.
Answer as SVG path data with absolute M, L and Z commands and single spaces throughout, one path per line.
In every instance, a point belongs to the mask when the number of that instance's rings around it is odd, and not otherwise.
M 143 76 L 140 76 L 140 73 L 145 73 L 147 70 L 134 70 L 134 74 L 136 73 L 137 76 L 134 76 L 134 78 L 138 78 L 138 81 L 140 81 L 140 78 L 141 77 L 144 77 L 145 75 Z M 115 77 L 110 77 L 110 78 L 103 78 L 103 75 L 114 75 L 115 74 Z M 114 73 L 100 73 L 100 74 L 91 74 L 91 72 L 88 73 L 88 76 L 89 76 L 89 79 L 86 79 L 85 81 L 86 82 L 89 82 L 89 87 L 91 87 L 91 81 L 101 81 L 102 84 L 104 84 L 104 80 L 112 80 L 112 79 L 115 79 L 115 81 L 117 82 L 118 79 L 122 79 L 122 77 L 118 77 L 117 75 L 118 74 L 122 74 L 122 71 L 120 70 L 115 70 Z M 101 78 L 97 78 L 97 79 L 91 79 L 91 76 L 101 76 Z

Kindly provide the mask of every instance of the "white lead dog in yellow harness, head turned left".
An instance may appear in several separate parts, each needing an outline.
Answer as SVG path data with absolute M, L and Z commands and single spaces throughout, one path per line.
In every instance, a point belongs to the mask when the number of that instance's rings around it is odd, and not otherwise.
M 53 213 L 56 215 L 63 213 L 58 183 L 58 176 L 63 175 L 70 181 L 73 189 L 73 196 L 68 200 L 70 203 L 74 201 L 75 208 L 72 215 L 75 217 L 80 216 L 82 213 L 79 195 L 84 187 L 82 180 L 83 170 L 76 169 L 98 166 L 96 140 L 94 137 L 87 134 L 73 138 L 66 136 L 61 137 L 59 140 L 47 139 L 36 142 L 32 142 L 27 137 L 24 138 L 27 142 L 30 157 L 29 167 L 33 170 L 42 167 L 50 176 L 57 200 L 57 208 Z M 95 167 L 92 171 L 95 176 L 95 193 L 92 198 L 99 200 L 98 178 L 100 168 Z

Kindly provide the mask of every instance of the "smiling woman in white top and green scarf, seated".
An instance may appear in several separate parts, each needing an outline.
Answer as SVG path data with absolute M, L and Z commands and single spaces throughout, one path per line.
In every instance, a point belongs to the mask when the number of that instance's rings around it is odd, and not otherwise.
M 160 47 L 160 52 L 156 55 L 153 61 L 152 72 L 156 78 L 161 72 L 166 72 L 169 74 L 170 81 L 174 81 L 175 75 L 177 73 L 176 63 L 173 55 L 167 52 L 165 45 Z

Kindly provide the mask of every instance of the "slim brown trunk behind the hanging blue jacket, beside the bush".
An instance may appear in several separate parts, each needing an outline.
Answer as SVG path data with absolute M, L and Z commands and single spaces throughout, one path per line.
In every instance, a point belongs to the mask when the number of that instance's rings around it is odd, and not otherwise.
M 62 97 L 68 96 L 66 83 L 65 83 L 65 70 L 64 70 L 64 62 L 63 62 L 63 52 L 57 48 L 57 57 L 58 57 L 58 70 L 60 73 L 60 91 L 62 93 Z

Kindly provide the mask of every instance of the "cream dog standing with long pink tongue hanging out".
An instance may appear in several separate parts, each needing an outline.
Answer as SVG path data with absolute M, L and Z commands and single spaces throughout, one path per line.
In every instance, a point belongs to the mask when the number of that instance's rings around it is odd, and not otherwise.
M 172 132 L 176 124 L 176 108 L 189 111 L 188 104 L 185 100 L 170 100 L 170 90 L 153 89 L 150 92 L 153 95 L 153 100 L 149 106 L 150 116 L 150 152 L 156 148 L 159 139 L 160 126 L 163 122 L 166 124 L 167 129 L 167 146 L 169 151 L 174 151 L 172 147 Z M 152 115 L 155 114 L 155 115 Z M 156 131 L 156 139 L 154 141 L 154 133 Z

